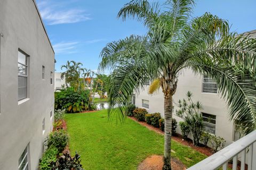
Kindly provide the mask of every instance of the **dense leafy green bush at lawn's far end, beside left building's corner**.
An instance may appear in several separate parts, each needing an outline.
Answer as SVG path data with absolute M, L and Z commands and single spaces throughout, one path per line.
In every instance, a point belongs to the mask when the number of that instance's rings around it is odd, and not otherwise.
M 89 90 L 77 90 L 68 87 L 55 93 L 55 109 L 65 109 L 67 112 L 81 112 L 88 108 Z

